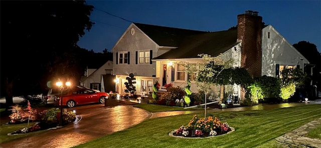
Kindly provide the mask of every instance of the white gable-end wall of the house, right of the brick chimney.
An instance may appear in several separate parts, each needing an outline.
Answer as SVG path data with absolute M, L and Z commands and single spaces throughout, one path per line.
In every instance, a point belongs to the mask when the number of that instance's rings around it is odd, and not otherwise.
M 271 25 L 262 30 L 262 76 L 275 77 L 275 64 L 300 65 L 302 69 L 306 63 L 308 61 Z

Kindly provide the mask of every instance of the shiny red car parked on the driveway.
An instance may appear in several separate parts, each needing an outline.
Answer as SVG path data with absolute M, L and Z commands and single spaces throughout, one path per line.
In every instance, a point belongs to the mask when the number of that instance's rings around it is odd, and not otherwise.
M 73 88 L 63 92 L 62 102 L 63 106 L 74 107 L 76 105 L 83 105 L 89 103 L 105 103 L 105 98 L 108 98 L 108 93 L 99 92 L 89 88 Z M 61 105 L 59 95 L 57 97 L 57 105 Z M 59 103 L 59 104 L 58 104 Z

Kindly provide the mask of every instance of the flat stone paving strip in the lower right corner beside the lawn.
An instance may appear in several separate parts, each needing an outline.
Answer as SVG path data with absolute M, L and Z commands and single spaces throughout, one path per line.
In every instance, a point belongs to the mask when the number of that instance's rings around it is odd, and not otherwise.
M 276 139 L 277 142 L 287 147 L 320 147 L 321 140 L 317 138 L 309 138 L 304 136 L 311 129 L 316 128 L 317 125 L 321 124 L 321 118 L 311 121 L 301 127 L 294 129 L 293 131 L 287 132 Z

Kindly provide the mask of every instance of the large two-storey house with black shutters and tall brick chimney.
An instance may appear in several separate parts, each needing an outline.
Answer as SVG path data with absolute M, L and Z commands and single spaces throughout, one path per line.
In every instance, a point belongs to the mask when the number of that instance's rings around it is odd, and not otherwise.
M 236 61 L 234 67 L 244 67 L 252 76 L 279 77 L 284 68 L 302 69 L 309 63 L 271 25 L 263 25 L 262 17 L 253 11 L 237 16 L 237 30 L 219 32 L 132 23 L 112 51 L 118 92 L 123 92 L 129 73 L 136 77 L 137 92 L 152 91 L 155 81 L 162 88 L 169 83 L 185 87 L 189 79 L 191 91 L 198 92 L 196 74 L 188 74 L 184 66 L 198 68 L 203 62 L 198 54 L 220 56 L 223 60 L 232 58 Z M 212 89 L 217 96 L 219 88 Z M 243 99 L 244 92 L 240 90 L 237 85 L 226 89 Z

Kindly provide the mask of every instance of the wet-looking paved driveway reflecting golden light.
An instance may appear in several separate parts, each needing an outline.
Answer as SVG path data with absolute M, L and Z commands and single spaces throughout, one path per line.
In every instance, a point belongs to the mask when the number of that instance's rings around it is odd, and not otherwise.
M 90 106 L 90 107 L 89 107 Z M 89 140 L 131 127 L 147 118 L 148 113 L 131 105 L 105 107 L 103 104 L 76 109 L 82 119 L 76 124 L 28 138 L 3 143 L 7 147 L 73 147 Z

